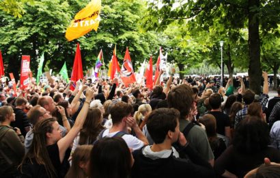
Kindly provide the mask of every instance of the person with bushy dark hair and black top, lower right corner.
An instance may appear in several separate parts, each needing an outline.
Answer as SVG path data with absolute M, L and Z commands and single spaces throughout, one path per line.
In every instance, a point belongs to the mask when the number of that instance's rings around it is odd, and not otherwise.
M 256 116 L 247 116 L 235 130 L 234 140 L 216 160 L 216 173 L 223 177 L 244 177 L 262 164 L 264 157 L 280 162 L 280 152 L 268 147 L 268 125 Z

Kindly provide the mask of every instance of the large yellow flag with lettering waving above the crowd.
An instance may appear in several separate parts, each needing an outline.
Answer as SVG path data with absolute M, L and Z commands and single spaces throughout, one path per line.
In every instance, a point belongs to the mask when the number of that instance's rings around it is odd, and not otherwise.
M 94 29 L 97 31 L 100 22 L 101 0 L 92 0 L 83 10 L 78 12 L 70 27 L 66 30 L 68 41 L 84 36 Z

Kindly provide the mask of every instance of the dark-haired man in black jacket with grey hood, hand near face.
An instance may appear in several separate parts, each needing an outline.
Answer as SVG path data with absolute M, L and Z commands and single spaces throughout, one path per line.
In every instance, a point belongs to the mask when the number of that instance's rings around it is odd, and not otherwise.
M 180 132 L 179 118 L 176 109 L 160 108 L 150 114 L 147 128 L 154 144 L 133 152 L 132 178 L 214 177 L 212 166 L 191 148 Z M 178 150 L 171 146 L 175 142 Z

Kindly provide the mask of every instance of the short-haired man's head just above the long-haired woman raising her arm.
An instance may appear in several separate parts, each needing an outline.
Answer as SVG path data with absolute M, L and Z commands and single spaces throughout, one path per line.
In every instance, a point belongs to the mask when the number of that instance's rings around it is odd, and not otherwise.
M 51 118 L 51 114 L 44 107 L 35 105 L 27 112 L 27 118 L 32 125 L 36 125 L 41 119 Z

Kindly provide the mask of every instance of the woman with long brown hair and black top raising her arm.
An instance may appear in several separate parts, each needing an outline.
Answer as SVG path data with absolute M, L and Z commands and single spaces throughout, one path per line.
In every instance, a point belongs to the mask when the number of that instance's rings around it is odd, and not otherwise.
M 29 177 L 64 177 L 66 175 L 69 168 L 69 147 L 85 122 L 93 94 L 92 90 L 87 90 L 82 110 L 74 126 L 64 138 L 61 138 L 59 124 L 54 118 L 40 120 L 35 125 L 31 148 L 20 164 L 23 175 Z

